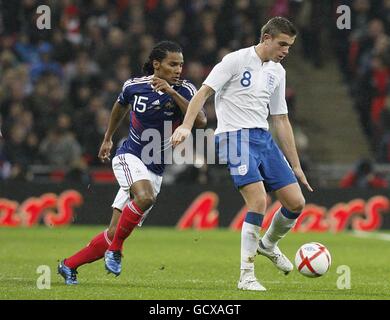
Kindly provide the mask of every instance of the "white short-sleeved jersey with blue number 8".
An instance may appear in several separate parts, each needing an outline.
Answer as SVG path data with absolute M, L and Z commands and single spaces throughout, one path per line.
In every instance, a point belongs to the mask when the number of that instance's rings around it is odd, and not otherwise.
M 215 134 L 244 128 L 268 130 L 268 114 L 287 114 L 286 71 L 262 62 L 255 47 L 227 54 L 203 84 L 215 91 Z

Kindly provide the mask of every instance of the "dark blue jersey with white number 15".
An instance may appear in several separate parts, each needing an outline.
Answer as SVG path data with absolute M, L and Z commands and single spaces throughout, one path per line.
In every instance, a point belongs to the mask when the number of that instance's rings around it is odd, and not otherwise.
M 164 123 L 165 127 L 168 125 L 168 128 L 172 128 L 172 131 L 175 130 L 183 120 L 183 113 L 169 94 L 154 91 L 151 85 L 152 78 L 153 75 L 132 78 L 127 80 L 123 85 L 122 92 L 117 101 L 123 106 L 131 105 L 132 109 L 130 111 L 129 135 L 118 148 L 116 155 L 131 153 L 140 158 L 149 170 L 158 175 L 162 175 L 165 167 L 164 150 L 167 149 L 169 138 L 172 135 L 172 132 L 164 132 Z M 173 86 L 173 89 L 188 101 L 196 93 L 195 86 L 187 80 Z M 158 157 L 158 161 L 151 162 L 142 159 L 142 150 L 151 143 L 145 137 L 142 139 L 142 134 L 147 129 L 154 129 L 154 133 L 158 132 L 160 135 L 161 140 L 158 147 L 156 148 L 156 144 L 154 143 L 151 150 L 151 153 L 155 154 L 148 154 L 150 156 L 148 160 Z M 149 133 L 146 134 L 145 132 L 145 135 L 149 137 Z

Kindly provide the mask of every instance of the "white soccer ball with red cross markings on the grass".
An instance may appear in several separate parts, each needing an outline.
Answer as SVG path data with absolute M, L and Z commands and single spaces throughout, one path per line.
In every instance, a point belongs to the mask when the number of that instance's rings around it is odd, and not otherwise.
M 309 278 L 324 275 L 329 270 L 331 262 L 328 249 L 318 242 L 305 243 L 295 255 L 295 266 L 298 271 Z

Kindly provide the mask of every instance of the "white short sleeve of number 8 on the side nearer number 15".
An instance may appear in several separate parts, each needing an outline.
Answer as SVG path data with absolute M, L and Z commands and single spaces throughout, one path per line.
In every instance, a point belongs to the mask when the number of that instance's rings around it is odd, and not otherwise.
M 229 53 L 211 70 L 203 84 L 217 92 L 238 72 L 238 68 L 238 53 Z

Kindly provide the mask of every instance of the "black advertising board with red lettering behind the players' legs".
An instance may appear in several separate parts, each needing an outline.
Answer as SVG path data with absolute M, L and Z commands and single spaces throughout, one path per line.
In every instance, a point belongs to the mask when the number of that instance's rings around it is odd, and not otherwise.
M 50 227 L 68 224 L 107 224 L 115 185 L 61 185 L 7 183 L 1 186 L 0 226 Z M 240 230 L 246 208 L 236 190 L 228 186 L 164 186 L 146 225 L 178 229 L 229 227 Z M 347 229 L 374 231 L 390 228 L 388 190 L 318 191 L 306 195 L 307 205 L 293 229 L 295 232 L 340 232 Z M 263 228 L 268 228 L 281 204 L 268 197 Z

